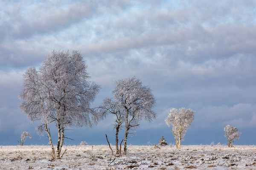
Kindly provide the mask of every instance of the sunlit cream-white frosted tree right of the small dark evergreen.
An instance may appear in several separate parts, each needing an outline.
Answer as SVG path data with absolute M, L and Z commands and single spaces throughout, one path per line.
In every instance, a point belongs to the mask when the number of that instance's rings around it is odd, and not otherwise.
M 194 120 L 194 114 L 195 111 L 191 109 L 185 110 L 185 108 L 180 108 L 178 111 L 176 108 L 172 108 L 165 119 L 169 127 L 172 125 L 171 130 L 175 138 L 177 149 L 180 149 L 180 141 L 184 140 L 186 130 L 191 126 L 191 122 Z

